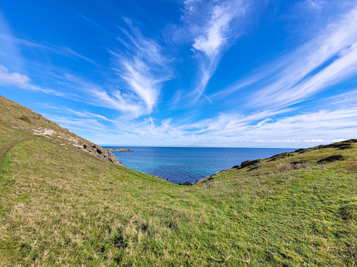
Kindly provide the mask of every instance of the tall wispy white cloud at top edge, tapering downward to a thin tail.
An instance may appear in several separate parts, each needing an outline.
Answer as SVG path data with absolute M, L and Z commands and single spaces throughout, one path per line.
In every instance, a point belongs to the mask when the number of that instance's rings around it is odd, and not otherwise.
M 240 35 L 240 30 L 234 22 L 245 15 L 247 6 L 241 0 L 211 1 L 207 6 L 201 1 L 185 1 L 184 3 L 186 13 L 182 19 L 191 25 L 192 51 L 201 70 L 198 84 L 193 91 L 196 101 L 204 93 L 217 69 L 224 49 L 230 41 L 232 42 Z M 233 38 L 232 31 L 234 31 Z M 205 97 L 211 101 L 206 95 Z

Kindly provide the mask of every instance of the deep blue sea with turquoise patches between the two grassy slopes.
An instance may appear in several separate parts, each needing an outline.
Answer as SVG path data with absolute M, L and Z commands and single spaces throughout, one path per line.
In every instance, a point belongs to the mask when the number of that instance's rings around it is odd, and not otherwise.
M 113 152 L 126 167 L 169 178 L 171 183 L 195 182 L 243 161 L 268 158 L 295 148 L 124 147 L 134 152 Z

